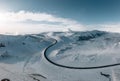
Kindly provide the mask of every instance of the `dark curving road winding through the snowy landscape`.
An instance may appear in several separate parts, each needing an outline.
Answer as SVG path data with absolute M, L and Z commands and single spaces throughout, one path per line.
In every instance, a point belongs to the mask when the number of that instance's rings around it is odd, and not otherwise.
M 62 65 L 62 64 L 55 63 L 47 57 L 47 50 L 57 43 L 57 40 L 56 39 L 54 39 L 54 40 L 55 40 L 55 42 L 53 42 L 50 46 L 48 46 L 44 51 L 45 59 L 53 65 L 63 67 L 63 68 L 68 68 L 68 69 L 100 69 L 100 68 L 108 68 L 108 67 L 113 67 L 113 66 L 119 66 L 120 65 L 120 63 L 115 63 L 115 64 L 92 66 L 92 67 L 73 67 L 73 66 L 67 66 L 67 65 Z

